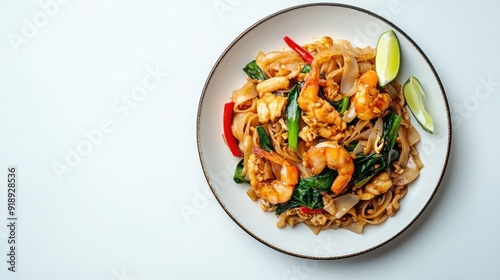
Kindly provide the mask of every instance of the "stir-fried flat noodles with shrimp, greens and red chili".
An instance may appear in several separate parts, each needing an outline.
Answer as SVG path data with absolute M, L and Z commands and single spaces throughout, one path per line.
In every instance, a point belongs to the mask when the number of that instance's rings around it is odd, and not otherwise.
M 245 66 L 224 112 L 224 140 L 241 157 L 234 179 L 278 228 L 362 233 L 400 208 L 423 167 L 420 136 L 402 86 L 380 86 L 375 48 L 312 41 L 260 51 Z

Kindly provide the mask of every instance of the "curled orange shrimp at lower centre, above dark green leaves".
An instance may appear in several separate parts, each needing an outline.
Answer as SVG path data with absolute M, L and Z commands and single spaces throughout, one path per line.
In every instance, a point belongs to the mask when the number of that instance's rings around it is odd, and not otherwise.
M 325 167 L 334 169 L 338 175 L 330 187 L 334 194 L 341 193 L 354 173 L 351 154 L 335 141 L 321 142 L 304 153 L 303 163 L 311 172 L 319 174 Z

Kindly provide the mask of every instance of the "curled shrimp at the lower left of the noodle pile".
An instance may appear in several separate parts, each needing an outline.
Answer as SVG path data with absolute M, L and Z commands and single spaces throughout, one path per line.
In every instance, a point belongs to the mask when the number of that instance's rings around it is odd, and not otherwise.
M 254 147 L 248 159 L 248 176 L 250 185 L 258 197 L 271 204 L 284 203 L 290 200 L 299 182 L 297 167 L 290 164 L 275 152 L 267 152 Z M 266 176 L 265 163 L 268 160 L 281 166 L 280 178 L 270 179 Z

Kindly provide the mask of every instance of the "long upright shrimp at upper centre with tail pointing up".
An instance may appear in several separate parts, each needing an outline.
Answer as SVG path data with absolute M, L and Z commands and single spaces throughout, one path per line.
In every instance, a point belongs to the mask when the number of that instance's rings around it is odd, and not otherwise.
M 320 136 L 332 139 L 338 132 L 345 130 L 346 123 L 342 120 L 339 112 L 318 95 L 320 65 L 329 58 L 321 56 L 314 59 L 297 102 L 304 112 L 306 124 L 311 127 L 319 125 L 322 127 L 321 130 L 318 130 Z

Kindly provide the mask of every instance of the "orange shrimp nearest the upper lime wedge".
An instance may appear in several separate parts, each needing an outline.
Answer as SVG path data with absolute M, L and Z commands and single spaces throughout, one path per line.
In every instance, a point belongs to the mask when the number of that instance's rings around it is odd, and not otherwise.
M 373 70 L 358 78 L 357 91 L 351 97 L 351 103 L 360 120 L 368 121 L 382 115 L 392 102 L 387 93 L 377 89 L 378 76 Z

